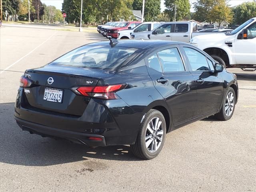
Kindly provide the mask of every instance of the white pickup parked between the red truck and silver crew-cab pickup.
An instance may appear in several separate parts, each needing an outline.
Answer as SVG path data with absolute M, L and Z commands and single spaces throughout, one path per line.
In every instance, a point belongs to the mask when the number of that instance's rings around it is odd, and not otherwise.
M 130 39 L 131 33 L 143 32 L 143 31 L 148 32 L 153 30 L 160 24 L 161 24 L 160 22 L 143 22 L 133 29 L 125 29 L 125 30 L 119 31 L 117 39 Z

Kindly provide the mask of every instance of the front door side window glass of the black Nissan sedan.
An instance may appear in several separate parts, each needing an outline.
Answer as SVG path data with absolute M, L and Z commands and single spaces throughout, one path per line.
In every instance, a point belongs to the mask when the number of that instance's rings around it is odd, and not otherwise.
M 204 56 L 202 53 L 188 47 L 184 47 L 184 51 L 186 53 L 186 56 L 188 57 L 192 71 L 197 71 L 197 70 L 209 71 L 210 70 L 208 62 L 206 60 L 206 56 Z

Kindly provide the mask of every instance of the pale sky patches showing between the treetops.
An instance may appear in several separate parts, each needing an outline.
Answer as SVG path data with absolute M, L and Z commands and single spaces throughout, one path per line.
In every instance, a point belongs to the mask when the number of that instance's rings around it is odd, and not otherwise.
M 189 0 L 190 4 L 196 2 L 197 0 Z M 242 4 L 243 2 L 247 2 L 247 1 L 253 1 L 253 0 L 230 0 L 229 4 L 231 7 Z M 55 6 L 57 9 L 62 9 L 62 3 L 63 0 L 41 0 L 42 3 L 45 3 L 46 5 L 52 5 Z M 192 6 L 191 6 L 192 7 Z M 161 0 L 161 11 L 165 10 L 165 6 L 164 6 L 164 0 Z M 190 9 L 191 12 L 194 11 L 193 7 Z

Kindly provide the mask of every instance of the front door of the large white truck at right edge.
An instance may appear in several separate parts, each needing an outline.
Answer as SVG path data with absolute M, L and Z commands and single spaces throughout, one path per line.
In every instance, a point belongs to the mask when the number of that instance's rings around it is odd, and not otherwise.
M 256 22 L 247 27 L 248 39 L 236 39 L 234 42 L 234 56 L 236 64 L 256 65 Z

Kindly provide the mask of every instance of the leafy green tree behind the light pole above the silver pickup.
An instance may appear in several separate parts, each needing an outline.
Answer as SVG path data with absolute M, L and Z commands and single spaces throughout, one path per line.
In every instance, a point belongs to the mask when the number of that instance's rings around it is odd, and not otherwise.
M 175 6 L 177 5 L 176 10 L 176 20 L 190 19 L 190 2 L 189 0 L 165 0 L 164 5 L 166 10 L 164 12 L 168 14 L 171 21 L 174 20 Z

